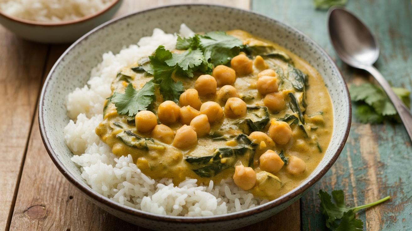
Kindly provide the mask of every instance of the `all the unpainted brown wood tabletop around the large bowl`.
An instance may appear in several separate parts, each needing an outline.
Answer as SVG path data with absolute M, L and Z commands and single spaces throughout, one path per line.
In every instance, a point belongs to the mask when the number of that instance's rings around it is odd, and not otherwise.
M 249 0 L 124 0 L 117 16 L 147 7 L 183 2 L 216 3 L 243 9 L 250 7 Z M 26 42 L 1 27 L 0 38 L 0 51 L 3 51 L 0 52 L 3 89 L 0 94 L 13 102 L 6 105 L 7 113 L 0 117 L 6 121 L 0 127 L 0 154 L 7 161 L 0 170 L 1 183 L 8 187 L 2 187 L 0 191 L 0 229 L 147 230 L 124 222 L 88 201 L 61 175 L 42 144 L 36 111 L 38 94 L 42 81 L 68 45 Z M 8 77 L 11 75 L 14 78 Z M 14 117 L 9 116 L 11 114 Z M 299 229 L 300 203 L 296 202 L 265 221 L 238 230 Z

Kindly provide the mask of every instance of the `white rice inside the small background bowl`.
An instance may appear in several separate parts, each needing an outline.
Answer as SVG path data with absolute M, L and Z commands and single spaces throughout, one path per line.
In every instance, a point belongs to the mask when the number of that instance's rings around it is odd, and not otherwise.
M 111 2 L 113 0 L 0 0 L 0 10 L 31 21 L 61 22 L 99 12 Z

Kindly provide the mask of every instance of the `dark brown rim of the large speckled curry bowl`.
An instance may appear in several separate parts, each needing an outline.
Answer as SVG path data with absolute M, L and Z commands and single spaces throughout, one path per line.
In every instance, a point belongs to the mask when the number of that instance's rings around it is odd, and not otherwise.
M 347 96 L 346 100 L 347 100 L 348 105 L 349 105 L 348 110 L 347 110 L 347 114 L 346 114 L 346 118 L 348 118 L 348 123 L 346 124 L 346 129 L 344 129 L 345 131 L 344 131 L 344 134 L 343 134 L 342 142 L 337 147 L 337 151 L 330 157 L 330 161 L 328 161 L 328 163 L 325 165 L 325 167 L 323 169 L 321 169 L 318 174 L 314 175 L 311 178 L 311 180 L 309 180 L 309 181 L 305 180 L 306 182 L 304 181 L 298 187 L 296 187 L 295 189 L 292 189 L 291 191 L 284 194 L 283 196 L 281 196 L 279 198 L 276 198 L 275 200 L 269 201 L 268 203 L 265 203 L 263 205 L 258 205 L 255 208 L 250 208 L 250 209 L 243 210 L 243 211 L 240 211 L 240 212 L 232 212 L 232 213 L 228 213 L 228 214 L 224 214 L 224 215 L 214 215 L 214 216 L 210 216 L 210 217 L 180 217 L 180 216 L 171 216 L 171 215 L 158 215 L 158 214 L 154 214 L 154 213 L 150 213 L 150 212 L 145 212 L 145 211 L 138 210 L 138 209 L 135 209 L 135 208 L 131 208 L 129 206 L 122 205 L 120 203 L 112 201 L 108 197 L 105 197 L 105 196 L 97 193 L 96 191 L 91 189 L 91 187 L 89 187 L 88 185 L 84 185 L 84 184 L 78 182 L 75 179 L 75 177 L 71 176 L 70 174 L 68 174 L 66 172 L 66 168 L 64 167 L 63 162 L 61 162 L 60 159 L 57 157 L 57 156 L 59 156 L 59 154 L 54 152 L 54 150 L 52 149 L 52 145 L 49 142 L 49 139 L 47 137 L 47 131 L 46 131 L 46 128 L 45 128 L 45 125 L 44 125 L 44 119 L 43 119 L 43 116 L 44 116 L 44 114 L 43 114 L 44 113 L 43 112 L 44 94 L 46 92 L 47 86 L 49 85 L 49 79 L 53 76 L 53 73 L 56 69 L 56 66 L 59 65 L 59 63 L 62 61 L 64 56 L 66 56 L 66 54 L 68 52 L 70 52 L 70 50 L 73 49 L 73 47 L 75 47 L 77 44 L 82 42 L 82 40 L 87 39 L 87 37 L 89 35 L 95 33 L 97 30 L 101 30 L 101 29 L 105 28 L 106 26 L 108 26 L 111 23 L 115 23 L 116 21 L 121 21 L 121 20 L 126 19 L 128 17 L 134 16 L 135 14 L 150 12 L 150 11 L 154 11 L 154 10 L 157 10 L 157 9 L 164 9 L 164 8 L 169 8 L 169 7 L 192 7 L 192 6 L 194 6 L 194 7 L 199 7 L 199 6 L 200 7 L 221 7 L 221 8 L 227 8 L 227 9 L 232 9 L 232 10 L 239 10 L 239 11 L 247 12 L 249 14 L 255 14 L 256 16 L 264 17 L 266 19 L 270 19 L 275 23 L 279 23 L 281 26 L 290 28 L 291 30 L 295 31 L 298 35 L 304 37 L 307 41 L 311 42 L 311 46 L 316 47 L 316 49 L 325 57 L 325 59 L 328 60 L 331 63 L 332 68 L 337 70 L 337 77 L 342 81 L 342 83 L 344 85 L 344 89 L 342 89 L 342 91 L 344 93 L 346 93 L 346 96 Z M 87 34 L 83 35 L 82 37 L 80 37 L 80 39 L 78 39 L 76 42 L 74 42 L 66 51 L 64 51 L 64 53 L 60 56 L 60 58 L 53 65 L 52 69 L 49 72 L 49 75 L 47 76 L 47 78 L 44 82 L 42 92 L 41 92 L 41 95 L 40 95 L 39 110 L 38 110 L 40 135 L 41 135 L 43 144 L 44 144 L 50 158 L 52 159 L 52 161 L 54 162 L 56 167 L 59 169 L 59 171 L 66 177 L 66 179 L 68 179 L 68 181 L 71 184 L 73 184 L 78 190 L 80 190 L 80 192 L 82 194 L 87 194 L 90 198 L 94 199 L 96 202 L 104 204 L 106 206 L 110 206 L 110 208 L 112 208 L 114 210 L 118 210 L 120 212 L 128 213 L 129 215 L 137 215 L 138 217 L 141 217 L 141 218 L 144 218 L 144 219 L 150 219 L 150 220 L 153 220 L 153 221 L 159 221 L 159 219 L 160 219 L 162 222 L 178 222 L 178 223 L 187 223 L 187 224 L 194 224 L 194 223 L 203 224 L 203 223 L 209 223 L 209 222 L 224 222 L 226 220 L 239 219 L 239 218 L 243 218 L 243 217 L 249 217 L 249 216 L 257 215 L 260 212 L 264 212 L 266 210 L 270 210 L 272 208 L 275 208 L 279 205 L 282 205 L 282 204 L 286 203 L 287 201 L 293 200 L 293 198 L 295 198 L 296 196 L 298 196 L 300 194 L 303 194 L 305 191 L 307 191 L 313 184 L 318 182 L 318 180 L 320 180 L 328 172 L 328 170 L 332 167 L 332 165 L 335 163 L 335 161 L 339 157 L 339 155 L 342 152 L 342 150 L 344 148 L 344 145 L 347 141 L 347 138 L 349 136 L 349 131 L 350 131 L 350 128 L 351 128 L 351 115 L 352 115 L 352 108 L 351 108 L 351 99 L 349 97 L 349 90 L 348 90 L 348 88 L 345 84 L 345 80 L 342 76 L 341 71 L 339 70 L 336 63 L 333 61 L 333 59 L 330 57 L 330 55 L 319 44 L 317 44 L 314 40 L 312 40 L 308 35 L 304 34 L 303 32 L 301 32 L 300 30 L 298 30 L 297 28 L 295 28 L 293 26 L 290 26 L 290 25 L 288 25 L 286 23 L 283 23 L 279 20 L 273 19 L 273 18 L 271 18 L 269 16 L 266 16 L 264 14 L 253 12 L 251 10 L 241 9 L 241 8 L 236 8 L 236 7 L 229 7 L 229 6 L 225 6 L 225 5 L 203 4 L 203 3 L 171 4 L 171 5 L 164 5 L 164 6 L 160 6 L 160 7 L 151 7 L 151 8 L 143 9 L 143 10 L 132 12 L 132 13 L 129 13 L 129 14 L 125 14 L 123 16 L 117 17 L 116 19 L 112 19 L 110 21 L 107 21 L 107 22 L 101 24 L 100 26 L 94 28 L 93 30 L 91 30 Z

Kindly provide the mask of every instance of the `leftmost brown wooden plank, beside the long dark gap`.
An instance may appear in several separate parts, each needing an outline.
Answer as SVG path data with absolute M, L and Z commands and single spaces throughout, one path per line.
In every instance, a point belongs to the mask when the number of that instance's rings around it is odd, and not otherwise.
M 0 26 L 0 230 L 7 229 L 42 83 L 48 46 Z

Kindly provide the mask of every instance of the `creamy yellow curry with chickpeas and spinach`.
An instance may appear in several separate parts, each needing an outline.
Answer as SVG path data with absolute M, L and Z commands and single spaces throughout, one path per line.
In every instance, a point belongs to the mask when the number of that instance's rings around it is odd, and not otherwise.
M 230 177 L 271 200 L 297 187 L 321 161 L 332 135 L 332 103 L 306 61 L 244 31 L 227 34 L 246 48 L 211 75 L 173 75 L 186 89 L 178 103 L 156 90 L 150 108 L 127 116 L 109 98 L 96 134 L 154 179 L 208 184 Z M 113 93 L 152 79 L 136 71 L 141 63 L 119 72 Z

